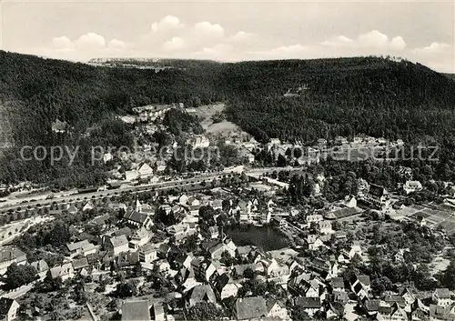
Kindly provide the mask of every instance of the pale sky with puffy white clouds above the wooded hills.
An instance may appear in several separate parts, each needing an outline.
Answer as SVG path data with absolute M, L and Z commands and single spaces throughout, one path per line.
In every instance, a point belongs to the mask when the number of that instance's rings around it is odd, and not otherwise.
M 72 61 L 390 55 L 455 73 L 453 1 L 0 0 L 3 50 Z

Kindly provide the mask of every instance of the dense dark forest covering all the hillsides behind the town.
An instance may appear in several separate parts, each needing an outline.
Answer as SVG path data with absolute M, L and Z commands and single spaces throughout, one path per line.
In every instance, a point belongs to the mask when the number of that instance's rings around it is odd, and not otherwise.
M 455 81 L 407 61 L 167 60 L 166 65 L 174 68 L 108 68 L 0 51 L 0 144 L 14 145 L 1 155 L 0 182 L 55 179 L 61 187 L 102 181 L 103 167 L 89 162 L 89 147 L 131 145 L 130 128 L 116 115 L 147 104 L 197 107 L 224 101 L 228 118 L 264 142 L 280 137 L 312 143 L 364 133 L 412 143 L 430 136 L 447 144 L 455 130 Z M 296 94 L 285 95 L 289 90 Z M 71 127 L 70 135 L 52 132 L 57 118 Z M 81 149 L 69 169 L 67 162 L 51 166 L 47 158 L 18 160 L 24 145 Z

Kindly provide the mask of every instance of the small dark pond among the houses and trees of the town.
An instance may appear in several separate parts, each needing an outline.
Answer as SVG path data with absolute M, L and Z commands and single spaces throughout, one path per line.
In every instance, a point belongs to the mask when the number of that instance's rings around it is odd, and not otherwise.
M 265 251 L 289 246 L 287 238 L 271 226 L 227 226 L 224 232 L 236 246 L 258 246 Z

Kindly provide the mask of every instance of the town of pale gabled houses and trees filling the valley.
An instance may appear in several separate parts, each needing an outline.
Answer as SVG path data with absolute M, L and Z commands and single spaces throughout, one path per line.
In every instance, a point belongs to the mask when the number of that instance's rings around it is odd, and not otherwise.
M 96 155 L 105 186 L 2 186 L 4 319 L 455 319 L 455 186 L 339 168 L 402 140 L 258 142 L 223 108 L 120 116 L 152 156 Z

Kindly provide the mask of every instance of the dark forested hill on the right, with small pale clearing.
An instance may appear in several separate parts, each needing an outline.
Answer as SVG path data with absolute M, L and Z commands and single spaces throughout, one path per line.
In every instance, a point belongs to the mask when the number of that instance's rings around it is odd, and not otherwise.
M 340 58 L 227 65 L 231 119 L 259 139 L 368 134 L 418 141 L 455 132 L 455 81 L 423 65 Z M 291 95 L 285 95 L 286 93 Z

